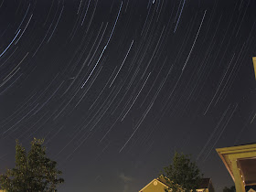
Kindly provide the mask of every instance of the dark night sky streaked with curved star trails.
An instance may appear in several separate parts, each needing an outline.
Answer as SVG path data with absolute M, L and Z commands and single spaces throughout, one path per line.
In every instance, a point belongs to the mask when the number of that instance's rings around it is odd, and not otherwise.
M 59 191 L 133 192 L 175 151 L 255 142 L 256 1 L 0 0 L 0 173 L 45 138 Z

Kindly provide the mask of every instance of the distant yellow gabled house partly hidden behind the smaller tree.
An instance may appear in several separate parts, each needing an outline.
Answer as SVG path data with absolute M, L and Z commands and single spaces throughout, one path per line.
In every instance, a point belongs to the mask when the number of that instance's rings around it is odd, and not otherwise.
M 153 179 L 144 188 L 139 190 L 139 192 L 165 192 L 165 189 L 170 187 L 169 183 L 171 181 L 166 176 L 159 176 Z M 182 187 L 179 187 L 182 191 Z M 203 178 L 198 189 L 198 192 L 213 192 L 213 186 L 210 178 Z

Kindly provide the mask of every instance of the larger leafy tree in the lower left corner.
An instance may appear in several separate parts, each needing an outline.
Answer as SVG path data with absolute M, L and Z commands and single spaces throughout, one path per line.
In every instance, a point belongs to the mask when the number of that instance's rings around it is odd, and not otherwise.
M 16 140 L 16 167 L 0 176 L 2 189 L 10 192 L 57 191 L 59 184 L 64 182 L 63 178 L 58 178 L 62 172 L 57 169 L 57 162 L 47 157 L 43 143 L 43 139 L 34 138 L 26 153 L 25 147 Z

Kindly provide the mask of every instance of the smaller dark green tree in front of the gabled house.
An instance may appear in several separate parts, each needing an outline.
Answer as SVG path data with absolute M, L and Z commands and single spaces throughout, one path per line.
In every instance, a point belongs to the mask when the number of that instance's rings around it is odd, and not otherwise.
M 164 176 L 170 179 L 168 190 L 196 191 L 199 186 L 202 174 L 195 162 L 190 160 L 190 155 L 175 153 L 173 163 L 164 167 Z

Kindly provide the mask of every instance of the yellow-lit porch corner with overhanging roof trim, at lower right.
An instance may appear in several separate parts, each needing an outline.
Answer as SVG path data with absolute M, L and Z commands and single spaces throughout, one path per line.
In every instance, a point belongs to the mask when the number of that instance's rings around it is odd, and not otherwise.
M 228 169 L 237 192 L 248 191 L 256 185 L 256 144 L 224 147 L 216 151 Z

